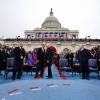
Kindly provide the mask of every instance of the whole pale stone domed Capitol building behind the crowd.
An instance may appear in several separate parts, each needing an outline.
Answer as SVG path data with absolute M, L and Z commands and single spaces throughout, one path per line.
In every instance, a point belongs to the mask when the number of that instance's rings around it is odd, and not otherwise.
M 53 15 L 52 8 L 49 14 L 49 17 L 42 23 L 41 28 L 25 30 L 25 38 L 3 39 L 1 42 L 10 47 L 15 47 L 19 43 L 23 43 L 26 51 L 38 48 L 42 42 L 45 42 L 46 44 L 55 46 L 58 53 L 67 50 L 75 52 L 79 49 L 80 44 L 84 44 L 88 49 L 100 45 L 100 40 L 90 38 L 79 39 L 78 30 L 63 28 L 58 19 Z

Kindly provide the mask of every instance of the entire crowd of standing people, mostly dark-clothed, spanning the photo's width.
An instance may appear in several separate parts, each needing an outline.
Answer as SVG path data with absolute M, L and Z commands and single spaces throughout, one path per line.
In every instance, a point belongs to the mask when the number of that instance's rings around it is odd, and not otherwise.
M 78 62 L 80 67 L 79 70 L 82 73 L 82 79 L 89 79 L 89 59 L 97 59 L 98 70 L 100 70 L 99 46 L 88 50 L 81 44 L 79 50 L 75 53 L 69 50 L 66 53 L 62 52 L 58 54 L 54 47 L 45 43 L 42 43 L 40 48 L 35 48 L 33 51 L 29 52 L 25 51 L 22 43 L 15 48 L 9 48 L 8 46 L 0 44 L 0 75 L 2 74 L 2 70 L 7 68 L 7 58 L 10 57 L 14 58 L 12 80 L 16 78 L 21 79 L 24 65 L 28 65 L 28 67 L 36 66 L 34 78 L 43 78 L 44 69 L 48 67 L 47 78 L 52 78 L 52 64 L 55 64 L 59 70 L 59 59 L 61 58 L 68 59 L 68 64 L 72 68 L 74 68 L 74 64 Z

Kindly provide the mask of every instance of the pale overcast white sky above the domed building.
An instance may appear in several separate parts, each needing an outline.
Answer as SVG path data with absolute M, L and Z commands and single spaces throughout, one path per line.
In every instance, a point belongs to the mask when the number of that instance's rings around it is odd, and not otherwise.
M 100 0 L 0 0 L 0 37 L 23 37 L 41 27 L 50 8 L 62 27 L 100 39 Z

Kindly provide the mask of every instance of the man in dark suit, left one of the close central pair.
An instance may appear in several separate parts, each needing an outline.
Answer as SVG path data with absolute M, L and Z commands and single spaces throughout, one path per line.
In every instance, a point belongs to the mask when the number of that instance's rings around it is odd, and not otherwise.
M 44 68 L 45 68 L 45 43 L 41 44 L 42 47 L 38 48 L 37 50 L 37 69 L 35 78 L 38 77 L 40 72 L 40 77 L 43 78 Z

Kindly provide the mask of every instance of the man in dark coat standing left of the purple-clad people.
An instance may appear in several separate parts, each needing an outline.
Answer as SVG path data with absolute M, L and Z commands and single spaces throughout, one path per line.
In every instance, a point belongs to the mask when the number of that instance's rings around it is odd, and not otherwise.
M 18 73 L 17 79 L 21 79 L 23 59 L 25 57 L 25 50 L 23 48 L 23 44 L 21 43 L 20 46 L 15 47 L 13 50 L 13 53 L 14 53 L 14 59 L 15 59 L 15 66 L 14 66 L 12 79 L 15 80 L 16 73 Z

